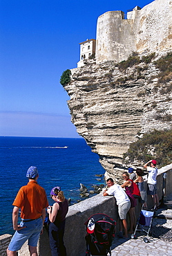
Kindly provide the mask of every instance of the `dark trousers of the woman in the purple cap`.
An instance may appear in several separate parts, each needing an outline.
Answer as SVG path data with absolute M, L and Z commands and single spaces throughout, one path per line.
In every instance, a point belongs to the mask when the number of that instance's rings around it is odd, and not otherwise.
M 49 239 L 52 256 L 66 256 L 66 248 L 64 246 L 64 228 L 65 220 L 59 222 L 57 226 L 54 223 L 49 225 Z

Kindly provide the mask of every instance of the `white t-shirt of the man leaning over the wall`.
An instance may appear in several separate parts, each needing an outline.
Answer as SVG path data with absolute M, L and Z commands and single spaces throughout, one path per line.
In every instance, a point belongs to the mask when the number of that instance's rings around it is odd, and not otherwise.
M 126 192 L 124 192 L 122 187 L 118 184 L 112 185 L 110 188 L 108 188 L 106 193 L 109 196 L 115 197 L 115 199 L 117 201 L 117 205 L 122 205 L 123 203 L 130 201 L 130 199 L 128 199 Z

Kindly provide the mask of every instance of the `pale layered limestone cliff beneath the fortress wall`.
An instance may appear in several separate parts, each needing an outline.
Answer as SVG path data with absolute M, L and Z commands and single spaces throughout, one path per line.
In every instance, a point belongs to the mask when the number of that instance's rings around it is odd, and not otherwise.
M 172 89 L 162 91 L 163 86 L 171 88 L 171 82 L 157 84 L 155 65 L 145 69 L 144 65 L 139 64 L 143 68 L 140 78 L 138 66 L 120 71 L 115 62 L 90 60 L 71 70 L 71 82 L 64 86 L 77 132 L 99 155 L 106 176 L 116 181 L 121 178 L 123 154 L 137 140 L 138 132 L 172 127 L 171 119 L 166 118 L 172 115 Z

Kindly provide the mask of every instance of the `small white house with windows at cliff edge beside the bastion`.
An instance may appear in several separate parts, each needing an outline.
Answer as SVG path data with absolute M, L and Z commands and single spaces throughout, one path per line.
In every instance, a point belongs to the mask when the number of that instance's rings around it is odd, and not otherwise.
M 84 66 L 84 60 L 95 54 L 95 43 L 95 39 L 86 39 L 86 41 L 80 43 L 80 60 L 77 62 L 77 68 Z

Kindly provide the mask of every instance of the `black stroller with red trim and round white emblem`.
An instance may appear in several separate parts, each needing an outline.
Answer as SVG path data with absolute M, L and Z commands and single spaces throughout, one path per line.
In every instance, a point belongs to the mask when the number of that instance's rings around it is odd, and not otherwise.
M 106 214 L 93 214 L 86 223 L 86 255 L 107 255 L 115 236 L 116 222 Z

